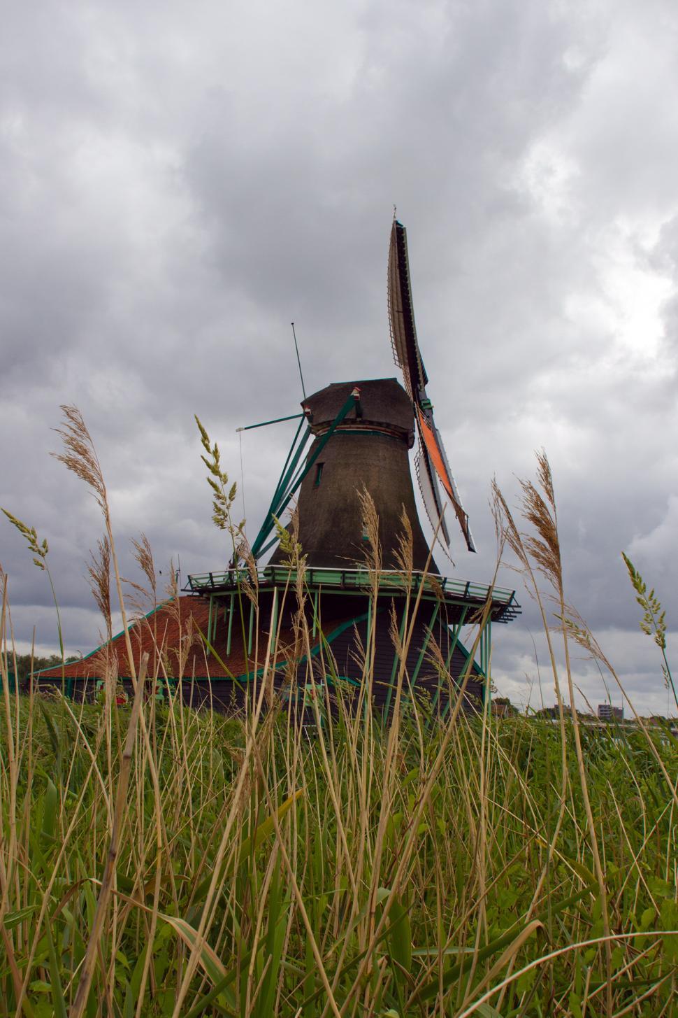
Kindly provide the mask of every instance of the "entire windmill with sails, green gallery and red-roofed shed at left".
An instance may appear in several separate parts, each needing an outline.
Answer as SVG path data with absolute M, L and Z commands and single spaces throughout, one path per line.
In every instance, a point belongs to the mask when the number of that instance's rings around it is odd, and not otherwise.
M 395 219 L 388 252 L 388 321 L 404 385 L 394 378 L 333 382 L 305 397 L 300 412 L 278 418 L 298 419 L 298 425 L 250 554 L 236 554 L 225 571 L 189 575 L 184 587 L 189 597 L 179 599 L 185 604 L 183 609 L 178 607 L 185 620 L 193 619 L 188 628 L 202 633 L 201 643 L 190 653 L 185 651 L 186 627 L 176 621 L 176 612 L 168 618 L 166 629 L 175 633 L 175 658 L 183 661 L 185 673 L 179 688 L 191 704 L 208 701 L 229 710 L 245 702 L 262 674 L 263 647 L 272 648 L 271 688 L 280 695 L 303 698 L 309 677 L 313 689 L 329 690 L 340 684 L 360 687 L 367 674 L 364 661 L 369 648 L 372 697 L 388 714 L 402 674 L 393 627 L 396 642 L 407 644 L 408 690 L 425 690 L 435 710 L 444 712 L 452 698 L 450 680 L 453 683 L 467 673 L 467 703 L 482 702 L 489 687 L 492 624 L 510 621 L 519 606 L 512 590 L 442 575 L 421 527 L 410 468 L 415 442 L 415 472 L 438 545 L 448 554 L 449 517 L 455 516 L 467 548 L 475 551 L 469 517 L 426 392 L 428 377 L 415 328 L 407 233 Z M 380 569 L 376 576 L 367 564 L 374 564 L 370 559 L 374 533 L 365 525 L 363 492 L 369 493 L 378 520 L 375 544 Z M 295 499 L 303 560 L 291 567 L 279 543 L 278 521 Z M 407 571 L 402 557 L 404 527 L 410 532 L 411 569 Z M 252 585 L 256 600 L 243 597 L 243 588 L 251 592 Z M 310 634 L 301 658 L 293 653 L 300 610 L 290 593 L 295 586 L 303 590 L 302 610 Z M 418 609 L 413 613 L 415 602 Z M 461 629 L 482 609 L 487 612 L 487 624 L 479 660 L 470 661 L 460 640 Z M 164 620 L 156 620 L 156 628 L 158 624 L 162 628 Z M 152 641 L 143 627 L 137 637 L 139 654 L 145 639 L 152 656 Z M 113 651 L 119 668 L 124 669 L 120 638 L 113 640 Z M 95 667 L 87 662 L 97 660 L 95 655 L 68 666 L 66 677 L 76 682 L 94 674 L 87 672 Z M 45 678 L 59 681 L 59 675 L 47 673 Z M 120 675 L 124 680 L 124 672 Z

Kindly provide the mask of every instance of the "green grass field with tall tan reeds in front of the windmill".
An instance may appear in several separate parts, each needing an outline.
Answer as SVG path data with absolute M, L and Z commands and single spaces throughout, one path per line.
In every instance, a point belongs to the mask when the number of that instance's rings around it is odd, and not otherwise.
M 70 421 L 80 449 L 66 428 L 66 465 L 104 513 L 90 572 L 110 624 L 111 567 L 121 584 L 106 489 Z M 358 709 L 337 687 L 330 713 L 318 687 L 304 725 L 294 697 L 271 698 L 263 663 L 231 719 L 146 699 L 143 665 L 126 706 L 113 676 L 101 703 L 11 695 L 5 581 L 0 1015 L 678 1013 L 675 742 L 641 721 L 592 730 L 566 716 L 572 641 L 616 676 L 564 600 L 545 458 L 519 525 L 494 495 L 500 553 L 565 649 L 562 673 L 552 655 L 555 724 L 487 708 L 440 722 L 407 695 L 403 664 L 384 726 L 369 641 Z M 47 545 L 13 521 L 46 567 Z M 294 542 L 290 554 L 298 564 Z M 631 579 L 666 655 L 661 606 Z M 299 629 L 304 645 L 303 615 Z

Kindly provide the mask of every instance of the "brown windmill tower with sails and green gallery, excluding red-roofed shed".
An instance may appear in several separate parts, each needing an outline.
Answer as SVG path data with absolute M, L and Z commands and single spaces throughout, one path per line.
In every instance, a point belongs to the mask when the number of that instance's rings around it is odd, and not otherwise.
M 258 578 L 258 626 L 263 625 L 269 635 L 275 626 L 292 625 L 292 606 L 287 616 L 276 607 L 281 590 L 290 582 L 287 552 L 279 544 L 276 524 L 296 499 L 298 541 L 305 565 L 305 610 L 313 638 L 318 640 L 311 651 L 311 656 L 317 653 L 318 660 L 310 663 L 316 680 L 321 684 L 337 680 L 360 684 L 362 648 L 372 636 L 372 694 L 388 710 L 397 670 L 392 620 L 400 627 L 402 638 L 414 595 L 420 606 L 411 626 L 408 682 L 427 689 L 434 701 L 441 703 L 439 666 L 453 678 L 465 671 L 468 654 L 459 639 L 460 630 L 489 599 L 480 660 L 473 663 L 467 686 L 472 701 L 482 698 L 488 685 L 491 623 L 510 621 L 519 607 L 512 590 L 441 575 L 421 527 L 409 455 L 416 441 L 415 472 L 439 546 L 448 554 L 451 540 L 446 517 L 455 516 L 466 547 L 476 550 L 426 391 L 428 377 L 415 327 L 407 232 L 396 219 L 390 232 L 387 295 L 390 339 L 404 384 L 394 378 L 351 379 L 333 382 L 304 398 L 292 447 L 251 546 Z M 369 592 L 370 572 L 364 564 L 368 534 L 360 498 L 363 491 L 369 493 L 378 518 L 381 572 L 374 604 Z M 404 515 L 412 548 L 412 573 L 407 577 L 400 557 Z M 268 564 L 262 565 L 270 551 Z M 255 626 L 251 616 L 239 620 L 236 608 L 235 587 L 243 569 L 242 562 L 234 562 L 225 573 L 190 576 L 187 589 L 210 599 L 213 618 L 222 618 L 221 605 L 226 599 L 220 630 L 225 626 L 230 634 L 239 627 L 247 630 L 251 653 Z M 231 621 L 227 623 L 227 619 Z M 217 638 L 215 631 L 212 635 Z M 225 651 L 230 654 L 232 647 L 229 636 Z M 331 659 L 329 664 L 327 658 Z M 308 667 L 309 661 L 304 660 L 298 671 L 300 682 Z M 446 703 L 447 693 L 443 696 Z

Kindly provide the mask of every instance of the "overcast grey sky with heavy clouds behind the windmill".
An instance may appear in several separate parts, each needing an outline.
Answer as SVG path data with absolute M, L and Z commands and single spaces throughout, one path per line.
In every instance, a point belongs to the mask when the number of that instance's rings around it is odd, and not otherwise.
M 63 0 L 3 22 L 0 505 L 49 540 L 67 646 L 98 641 L 83 576 L 102 521 L 49 456 L 59 405 L 95 437 L 128 575 L 142 530 L 165 574 L 171 556 L 184 576 L 222 567 L 193 414 L 240 483 L 235 429 L 298 408 L 292 320 L 307 391 L 395 374 L 395 204 L 481 549 L 453 531 L 455 575 L 491 578 L 491 478 L 514 503 L 545 447 L 568 597 L 636 705 L 666 713 L 620 552 L 678 660 L 675 2 Z M 251 536 L 291 438 L 243 440 Z M 0 562 L 20 647 L 35 624 L 53 649 L 46 578 L 7 521 Z M 550 704 L 519 600 L 495 681 Z M 605 699 L 598 669 L 574 668 Z

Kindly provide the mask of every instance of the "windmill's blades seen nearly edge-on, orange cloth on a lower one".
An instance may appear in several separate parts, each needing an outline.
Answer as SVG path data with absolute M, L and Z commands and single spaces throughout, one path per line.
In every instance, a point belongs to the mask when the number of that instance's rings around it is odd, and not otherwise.
M 412 399 L 420 435 L 417 457 L 417 479 L 431 525 L 438 531 L 443 548 L 449 548 L 449 533 L 442 519 L 442 501 L 438 479 L 454 510 L 470 552 L 476 551 L 469 516 L 447 462 L 442 439 L 433 420 L 433 408 L 426 395 L 428 376 L 424 367 L 412 301 L 408 234 L 405 226 L 393 219 L 388 249 L 388 324 L 395 363 L 403 371 L 405 388 Z

